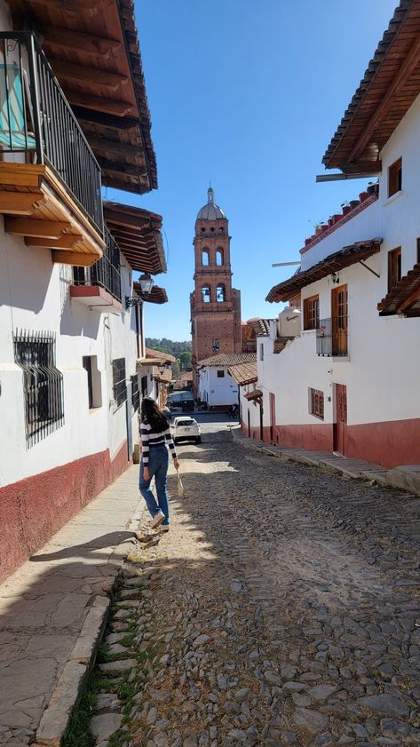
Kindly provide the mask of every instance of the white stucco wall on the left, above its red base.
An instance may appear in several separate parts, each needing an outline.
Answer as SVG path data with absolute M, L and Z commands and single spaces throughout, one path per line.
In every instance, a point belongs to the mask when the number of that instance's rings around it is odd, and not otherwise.
M 0 485 L 109 449 L 111 458 L 127 438 L 125 405 L 115 409 L 112 361 L 126 359 L 136 373 L 134 314 L 99 314 L 69 297 L 72 270 L 52 264 L 50 250 L 29 249 L 4 233 L 0 219 Z M 131 295 L 131 272 L 122 267 L 123 298 Z M 64 379 L 65 423 L 31 448 L 25 437 L 23 372 L 14 363 L 16 330 L 56 335 L 56 366 Z M 102 406 L 89 409 L 83 355 L 96 355 Z M 133 442 L 138 434 L 132 418 Z

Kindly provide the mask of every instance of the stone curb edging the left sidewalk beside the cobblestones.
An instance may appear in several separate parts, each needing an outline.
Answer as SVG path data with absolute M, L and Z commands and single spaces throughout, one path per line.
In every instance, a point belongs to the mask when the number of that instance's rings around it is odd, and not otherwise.
M 143 498 L 131 516 L 128 530 L 136 530 L 138 522 L 146 512 Z M 138 516 L 139 520 L 134 517 Z M 111 599 L 123 573 L 123 563 L 131 550 L 131 543 L 127 541 L 115 545 L 109 560 L 109 575 L 114 576 L 107 592 L 109 596 L 95 594 L 91 600 L 91 608 L 84 619 L 82 629 L 75 642 L 67 664 L 59 677 L 57 686 L 52 692 L 50 700 L 44 710 L 39 727 L 36 729 L 36 741 L 32 747 L 60 747 L 66 733 L 75 704 L 82 693 L 86 678 L 91 672 L 102 640 L 107 616 L 111 606 Z M 105 594 L 105 592 L 104 592 Z

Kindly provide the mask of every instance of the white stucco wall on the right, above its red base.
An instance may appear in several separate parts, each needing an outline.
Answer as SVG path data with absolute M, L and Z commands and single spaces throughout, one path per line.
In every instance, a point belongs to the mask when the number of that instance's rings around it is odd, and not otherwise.
M 381 154 L 383 174 L 378 200 L 302 256 L 305 270 L 353 242 L 376 236 L 383 239 L 380 253 L 366 260 L 379 278 L 360 264 L 338 274 L 339 285 L 348 286 L 348 360 L 318 356 L 313 330 L 303 331 L 280 354 L 273 354 L 271 338 L 258 338 L 258 350 L 260 342 L 265 346 L 264 361 L 258 355 L 265 425 L 270 420 L 269 392 L 276 396 L 277 425 L 316 422 L 318 418 L 308 412 L 308 387 L 324 393 L 324 422 L 334 422 L 333 383 L 347 385 L 349 425 L 420 417 L 420 320 L 380 317 L 376 308 L 388 292 L 388 251 L 401 247 L 403 275 L 416 263 L 416 240 L 420 236 L 419 130 L 417 97 Z M 400 157 L 402 190 L 388 198 L 388 167 Z M 354 184 L 357 196 L 359 183 Z M 302 300 L 319 294 L 320 319 L 331 316 L 333 287 L 329 276 L 302 290 Z

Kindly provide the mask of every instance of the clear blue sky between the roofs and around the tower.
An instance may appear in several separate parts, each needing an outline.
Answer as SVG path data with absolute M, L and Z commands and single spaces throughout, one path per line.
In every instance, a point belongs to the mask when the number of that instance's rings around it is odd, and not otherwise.
M 108 199 L 163 216 L 169 296 L 147 305 L 147 336 L 190 338 L 194 221 L 207 202 L 226 212 L 242 320 L 265 303 L 320 219 L 367 180 L 315 184 L 321 158 L 397 0 L 137 0 L 136 19 L 159 189 Z M 293 267 L 291 268 L 294 269 Z

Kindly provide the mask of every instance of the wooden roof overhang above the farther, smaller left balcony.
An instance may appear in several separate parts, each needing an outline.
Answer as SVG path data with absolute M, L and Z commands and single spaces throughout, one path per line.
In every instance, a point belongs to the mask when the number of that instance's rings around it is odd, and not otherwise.
M 130 205 L 104 203 L 104 219 L 133 270 L 150 274 L 166 272 L 161 215 Z

